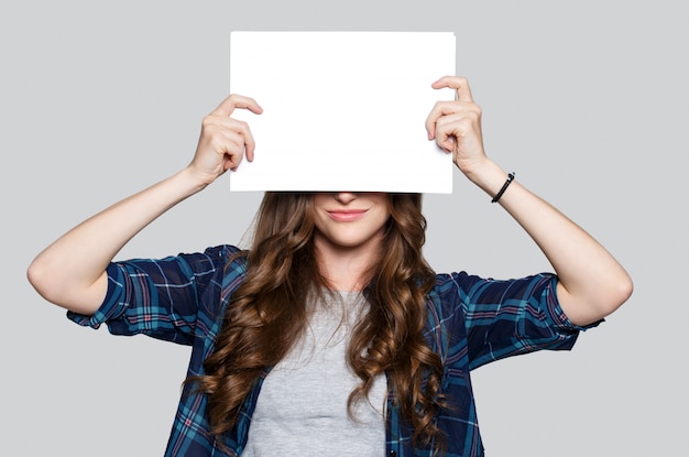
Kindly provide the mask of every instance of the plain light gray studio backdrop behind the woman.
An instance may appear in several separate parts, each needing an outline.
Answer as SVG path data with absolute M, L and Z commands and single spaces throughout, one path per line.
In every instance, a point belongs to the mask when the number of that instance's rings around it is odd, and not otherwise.
M 1 455 L 162 455 L 189 349 L 79 328 L 31 289 L 25 270 L 77 222 L 188 163 L 201 118 L 228 94 L 232 30 L 455 32 L 457 74 L 483 108 L 489 155 L 597 237 L 636 287 L 573 351 L 474 371 L 488 455 L 683 455 L 683 7 L 403 4 L 2 3 Z M 453 178 L 452 195 L 425 198 L 425 252 L 437 271 L 550 270 L 488 195 L 458 171 Z M 260 196 L 230 194 L 225 176 L 118 258 L 236 243 Z

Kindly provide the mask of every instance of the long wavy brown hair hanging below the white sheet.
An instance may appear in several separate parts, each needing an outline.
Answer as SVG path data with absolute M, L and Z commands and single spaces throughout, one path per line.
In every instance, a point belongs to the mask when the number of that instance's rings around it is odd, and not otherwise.
M 434 417 L 442 362 L 425 337 L 426 294 L 435 273 L 422 254 L 426 219 L 420 194 L 390 194 L 380 259 L 367 278 L 368 315 L 352 330 L 348 363 L 361 379 L 349 395 L 349 412 L 365 400 L 376 376 L 412 425 L 415 445 L 445 448 Z M 237 424 L 238 413 L 264 371 L 293 347 L 307 323 L 307 295 L 328 287 L 314 246 L 313 194 L 266 193 L 259 209 L 247 275 L 230 298 L 205 374 L 190 381 L 208 395 L 211 433 Z

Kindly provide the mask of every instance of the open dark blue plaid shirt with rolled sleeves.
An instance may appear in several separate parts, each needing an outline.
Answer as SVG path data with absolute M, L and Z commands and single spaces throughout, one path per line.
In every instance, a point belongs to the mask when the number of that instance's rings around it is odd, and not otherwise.
M 108 266 L 108 294 L 92 316 L 68 313 L 74 322 L 114 335 L 145 334 L 193 347 L 189 376 L 203 374 L 232 291 L 245 273 L 245 261 L 229 259 L 238 249 L 209 248 L 203 253 L 161 260 L 136 259 Z M 442 393 L 450 409 L 437 417 L 448 436 L 449 457 L 483 456 L 470 370 L 501 358 L 539 349 L 570 349 L 581 327 L 562 313 L 557 278 L 538 274 L 495 281 L 464 272 L 439 274 L 427 297 L 427 340 L 442 359 Z M 262 380 L 243 405 L 238 425 L 222 437 L 227 454 L 208 433 L 206 396 L 182 392 L 165 456 L 238 456 L 249 433 Z M 430 456 L 412 446 L 412 429 L 387 401 L 386 456 Z

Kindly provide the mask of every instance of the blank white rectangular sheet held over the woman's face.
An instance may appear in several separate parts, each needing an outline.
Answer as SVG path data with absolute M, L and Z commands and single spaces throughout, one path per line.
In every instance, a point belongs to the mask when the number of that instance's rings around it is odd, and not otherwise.
M 232 32 L 230 91 L 256 141 L 231 191 L 451 193 L 451 156 L 425 120 L 451 89 L 451 32 Z

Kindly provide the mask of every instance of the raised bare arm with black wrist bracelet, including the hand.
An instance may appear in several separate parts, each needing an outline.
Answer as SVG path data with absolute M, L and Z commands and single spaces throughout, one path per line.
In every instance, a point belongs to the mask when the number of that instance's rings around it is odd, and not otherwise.
M 446 76 L 436 89 L 457 90 L 455 101 L 436 104 L 426 120 L 428 138 L 448 153 L 475 185 L 495 197 L 507 173 L 483 150 L 481 109 L 467 79 Z M 558 275 L 557 295 L 577 325 L 597 322 L 620 307 L 632 294 L 632 280 L 617 261 L 589 233 L 555 207 L 513 181 L 497 200 L 536 241 Z

